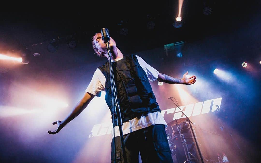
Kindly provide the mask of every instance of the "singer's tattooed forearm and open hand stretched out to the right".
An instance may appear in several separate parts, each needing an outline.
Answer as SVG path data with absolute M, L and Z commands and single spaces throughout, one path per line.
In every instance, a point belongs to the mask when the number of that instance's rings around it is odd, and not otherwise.
M 159 73 L 157 81 L 161 81 L 161 82 L 165 82 L 165 83 L 169 83 L 169 84 L 194 84 L 196 82 L 195 75 L 193 75 L 189 78 L 187 78 L 186 75 L 188 75 L 188 72 L 186 72 L 183 75 L 182 79 L 177 79 L 177 78 Z

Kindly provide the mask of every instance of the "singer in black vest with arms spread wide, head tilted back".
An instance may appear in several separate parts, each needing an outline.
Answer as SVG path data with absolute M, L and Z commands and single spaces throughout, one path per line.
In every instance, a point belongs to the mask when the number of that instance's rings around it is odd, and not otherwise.
M 92 46 L 99 57 L 109 59 L 101 33 L 94 34 Z M 127 162 L 138 162 L 139 152 L 142 162 L 173 162 L 165 132 L 165 125 L 167 124 L 160 113 L 161 110 L 156 102 L 149 80 L 170 84 L 193 84 L 196 81 L 196 76 L 193 75 L 187 78 L 187 72 L 182 79 L 176 79 L 161 74 L 139 56 L 124 56 L 111 37 L 109 46 L 112 55 L 117 98 L 121 108 Z M 63 121 L 54 122 L 53 124 L 58 125 L 57 129 L 53 132 L 48 131 L 48 133 L 58 133 L 84 110 L 94 96 L 100 96 L 102 90 L 106 92 L 105 101 L 112 114 L 109 62 L 96 69 L 82 99 Z M 114 141 L 116 142 L 116 158 L 114 155 Z M 111 142 L 111 162 L 114 162 L 115 159 L 116 162 L 124 162 L 120 133 L 117 127 L 115 127 L 115 140 L 113 138 Z

